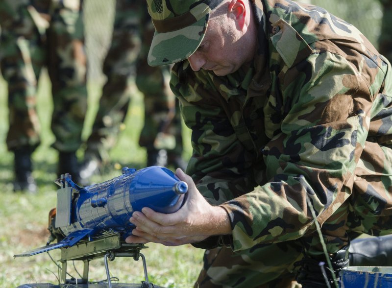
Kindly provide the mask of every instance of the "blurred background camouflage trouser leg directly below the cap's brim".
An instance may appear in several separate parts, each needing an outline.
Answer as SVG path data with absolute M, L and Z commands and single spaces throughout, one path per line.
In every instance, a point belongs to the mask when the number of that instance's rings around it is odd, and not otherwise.
M 136 85 L 145 96 L 145 124 L 139 144 L 149 149 L 166 149 L 168 153 L 181 156 L 182 131 L 178 100 L 172 93 L 170 66 L 150 67 L 147 54 L 155 28 L 147 14 L 142 19 L 143 46 L 137 66 Z

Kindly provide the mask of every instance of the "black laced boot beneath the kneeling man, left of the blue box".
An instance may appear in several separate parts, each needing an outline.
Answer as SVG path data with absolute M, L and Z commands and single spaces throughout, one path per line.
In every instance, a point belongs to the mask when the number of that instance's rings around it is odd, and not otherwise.
M 340 272 L 349 264 L 348 246 L 330 256 L 333 271 L 330 270 L 328 263 L 324 260 L 316 260 L 305 254 L 304 258 L 296 263 L 300 266 L 296 281 L 302 285 L 302 288 L 336 287 L 332 273 L 334 273 L 335 279 L 339 281 Z M 339 283 L 337 284 L 339 285 Z

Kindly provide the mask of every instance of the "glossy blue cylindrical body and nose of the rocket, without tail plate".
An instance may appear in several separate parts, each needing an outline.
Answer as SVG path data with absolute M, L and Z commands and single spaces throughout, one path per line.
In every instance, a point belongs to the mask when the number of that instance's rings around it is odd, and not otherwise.
M 72 200 L 71 225 L 61 227 L 65 236 L 91 229 L 90 236 L 111 232 L 130 234 L 134 211 L 149 207 L 160 213 L 177 211 L 188 191 L 185 182 L 164 167 L 140 170 L 123 168 L 123 175 L 79 190 Z

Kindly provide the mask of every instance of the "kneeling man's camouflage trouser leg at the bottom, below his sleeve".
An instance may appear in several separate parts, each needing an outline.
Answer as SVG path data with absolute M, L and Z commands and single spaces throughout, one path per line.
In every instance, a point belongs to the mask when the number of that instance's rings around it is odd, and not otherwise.
M 206 250 L 204 265 L 194 288 L 292 287 L 294 263 L 302 258 L 295 241 L 256 245 L 233 252 L 218 247 Z

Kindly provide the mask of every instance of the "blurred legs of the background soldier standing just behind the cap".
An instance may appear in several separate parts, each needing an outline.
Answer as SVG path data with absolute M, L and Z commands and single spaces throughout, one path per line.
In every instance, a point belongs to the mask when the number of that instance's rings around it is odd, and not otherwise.
M 92 133 L 87 140 L 85 165 L 88 178 L 108 159 L 128 111 L 130 81 L 144 94 L 145 123 L 139 144 L 147 149 L 147 166 L 185 168 L 178 101 L 169 87 L 170 67 L 150 67 L 147 54 L 155 29 L 147 5 L 139 0 L 117 0 L 111 46 L 103 63 L 107 80 L 102 89 Z M 177 112 L 176 112 L 177 111 Z

